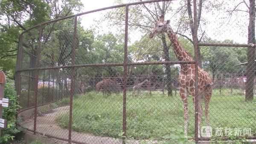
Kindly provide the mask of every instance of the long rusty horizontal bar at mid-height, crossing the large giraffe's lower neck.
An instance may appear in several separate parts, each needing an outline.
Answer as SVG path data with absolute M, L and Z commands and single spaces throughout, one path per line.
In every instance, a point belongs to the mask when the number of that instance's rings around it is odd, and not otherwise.
M 157 65 L 157 64 L 195 64 L 195 61 L 155 61 L 155 62 L 140 62 L 140 63 L 127 63 L 128 66 L 140 66 L 140 65 Z M 123 63 L 98 63 L 98 64 L 79 64 L 74 67 L 101 67 L 101 66 L 123 66 Z M 72 66 L 53 66 L 43 68 L 31 68 L 22 69 L 17 72 L 32 71 L 32 70 L 45 70 L 45 69 L 67 69 Z

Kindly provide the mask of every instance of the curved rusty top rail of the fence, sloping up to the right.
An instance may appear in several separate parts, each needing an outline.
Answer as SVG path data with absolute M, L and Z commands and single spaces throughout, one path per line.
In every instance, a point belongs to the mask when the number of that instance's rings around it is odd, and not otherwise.
M 25 32 L 28 32 L 31 29 L 34 29 L 34 28 L 40 26 L 40 25 L 43 26 L 43 25 L 46 25 L 48 23 L 57 22 L 59 20 L 65 20 L 65 19 L 68 19 L 68 18 L 72 18 L 72 17 L 84 15 L 84 14 L 90 14 L 90 13 L 93 13 L 93 12 L 104 11 L 104 10 L 107 10 L 107 9 L 115 9 L 115 8 L 120 8 L 120 7 L 125 7 L 125 6 L 139 5 L 139 4 L 145 4 L 145 3 L 154 3 L 154 2 L 162 2 L 162 1 L 172 1 L 172 0 L 147 0 L 147 1 L 140 1 L 140 2 L 135 2 L 135 3 L 127 3 L 127 4 L 116 5 L 116 6 L 109 6 L 109 7 L 105 7 L 105 8 L 102 8 L 102 9 L 95 9 L 95 10 L 88 11 L 88 12 L 82 12 L 82 13 L 79 13 L 79 14 L 73 14 L 73 15 L 70 15 L 70 16 L 67 16 L 67 17 L 61 17 L 61 18 L 58 18 L 58 19 L 55 19 L 55 20 L 50 20 L 50 21 L 38 24 L 36 26 L 32 26 L 31 28 L 26 29 L 25 31 L 21 32 L 21 35 L 23 33 L 25 33 Z

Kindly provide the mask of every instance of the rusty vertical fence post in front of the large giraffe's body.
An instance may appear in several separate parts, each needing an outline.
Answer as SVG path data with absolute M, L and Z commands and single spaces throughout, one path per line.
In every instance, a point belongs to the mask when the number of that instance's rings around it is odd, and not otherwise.
M 194 35 L 193 35 L 193 42 L 194 42 L 194 49 L 195 49 L 195 141 L 198 141 L 198 117 L 199 117 L 199 95 L 198 95 L 198 38 L 197 38 L 197 8 L 196 8 L 196 0 L 193 0 L 194 5 Z

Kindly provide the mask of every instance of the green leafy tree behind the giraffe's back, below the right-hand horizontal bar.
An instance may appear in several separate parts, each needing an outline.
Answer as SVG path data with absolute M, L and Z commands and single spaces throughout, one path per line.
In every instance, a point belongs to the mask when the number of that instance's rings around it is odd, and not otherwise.
M 217 41 L 208 39 L 207 43 L 231 43 L 232 40 Z M 237 47 L 217 47 L 209 46 L 201 49 L 202 66 L 212 73 L 212 81 L 215 81 L 215 74 L 240 73 L 240 69 L 235 66 L 246 60 L 246 49 Z

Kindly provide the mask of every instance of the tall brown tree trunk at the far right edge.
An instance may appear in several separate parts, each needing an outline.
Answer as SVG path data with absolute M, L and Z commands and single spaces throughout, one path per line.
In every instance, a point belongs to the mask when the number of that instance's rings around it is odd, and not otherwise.
M 248 43 L 255 44 L 255 0 L 250 0 L 249 8 L 249 26 L 248 26 Z M 255 46 L 247 48 L 247 81 L 245 101 L 253 100 L 253 84 L 255 69 Z

